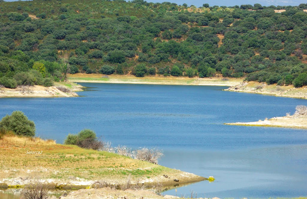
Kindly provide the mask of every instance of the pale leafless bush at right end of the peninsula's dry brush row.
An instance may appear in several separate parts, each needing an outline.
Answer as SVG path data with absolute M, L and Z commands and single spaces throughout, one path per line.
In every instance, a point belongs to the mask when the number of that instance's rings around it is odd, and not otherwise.
M 157 148 L 142 148 L 137 150 L 136 159 L 158 164 L 158 160 L 163 157 L 161 150 Z

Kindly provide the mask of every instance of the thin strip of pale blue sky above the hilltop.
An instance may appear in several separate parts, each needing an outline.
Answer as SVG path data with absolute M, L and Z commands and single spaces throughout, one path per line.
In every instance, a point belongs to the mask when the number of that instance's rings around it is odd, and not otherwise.
M 15 1 L 15 0 L 6 0 L 6 1 Z M 128 0 L 126 0 L 128 1 Z M 307 3 L 306 0 L 146 0 L 147 2 L 172 2 L 182 5 L 183 3 L 194 5 L 196 7 L 202 6 L 204 3 L 208 3 L 210 6 L 235 6 L 242 4 L 251 4 L 260 3 L 262 6 L 298 6 L 301 3 Z

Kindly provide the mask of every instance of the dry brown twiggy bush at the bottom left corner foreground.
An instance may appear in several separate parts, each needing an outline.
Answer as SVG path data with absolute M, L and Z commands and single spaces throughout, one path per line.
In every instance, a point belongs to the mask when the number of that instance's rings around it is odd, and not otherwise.
M 21 199 L 47 199 L 49 187 L 39 180 L 34 180 L 21 191 Z

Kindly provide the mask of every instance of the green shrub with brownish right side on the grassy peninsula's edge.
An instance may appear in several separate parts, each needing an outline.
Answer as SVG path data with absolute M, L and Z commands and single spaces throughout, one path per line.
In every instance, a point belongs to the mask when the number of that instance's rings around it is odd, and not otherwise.
M 84 129 L 77 135 L 68 134 L 64 140 L 64 144 L 77 145 L 81 148 L 100 150 L 103 143 L 97 138 L 96 133 L 90 129 Z

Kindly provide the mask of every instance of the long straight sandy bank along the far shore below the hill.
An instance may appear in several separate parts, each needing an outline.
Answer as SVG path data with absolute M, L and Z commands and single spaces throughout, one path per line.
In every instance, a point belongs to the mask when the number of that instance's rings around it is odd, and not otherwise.
M 163 75 L 135 77 L 134 75 L 70 74 L 72 82 L 124 83 L 124 84 L 162 84 L 162 85 L 199 85 L 199 86 L 235 86 L 242 78 L 188 78 Z

